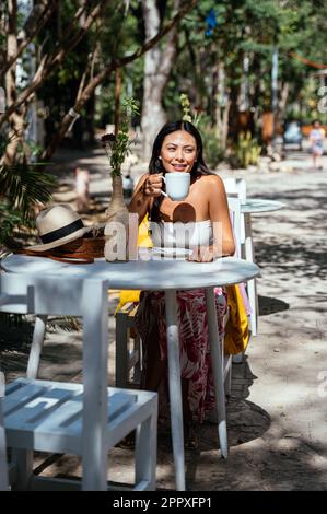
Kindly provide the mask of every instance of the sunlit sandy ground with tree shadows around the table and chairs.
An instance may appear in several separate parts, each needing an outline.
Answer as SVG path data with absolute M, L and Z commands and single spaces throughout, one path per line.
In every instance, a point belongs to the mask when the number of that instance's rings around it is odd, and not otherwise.
M 250 340 L 242 364 L 233 365 L 227 406 L 230 457 L 219 456 L 217 427 L 199 428 L 200 447 L 186 453 L 187 488 L 194 491 L 327 490 L 327 337 L 326 337 L 326 189 L 324 171 L 313 171 L 306 151 L 290 150 L 282 172 L 226 171 L 246 178 L 249 197 L 285 203 L 272 213 L 253 217 L 258 279 L 259 334 Z M 73 170 L 91 173 L 87 222 L 102 220 L 108 200 L 107 161 L 102 151 L 56 156 L 61 177 L 57 201 L 74 202 Z M 136 178 L 144 164 L 131 170 Z M 91 215 L 90 215 L 91 214 Z M 110 295 L 110 309 L 116 305 Z M 113 379 L 114 322 L 109 322 L 109 373 Z M 26 324 L 25 339 L 31 338 Z M 7 378 L 22 375 L 28 344 L 2 354 Z M 43 353 L 42 378 L 81 381 L 81 332 L 50 328 Z M 42 455 L 36 456 L 36 465 Z M 108 478 L 133 479 L 133 454 L 110 452 Z M 77 457 L 56 456 L 37 472 L 81 476 Z M 168 434 L 160 433 L 157 488 L 174 489 Z

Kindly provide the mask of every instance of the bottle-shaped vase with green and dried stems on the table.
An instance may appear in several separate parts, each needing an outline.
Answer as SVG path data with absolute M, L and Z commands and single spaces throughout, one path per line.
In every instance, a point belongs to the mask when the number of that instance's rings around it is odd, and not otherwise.
M 101 140 L 110 163 L 113 179 L 113 195 L 106 210 L 105 225 L 105 259 L 108 262 L 128 260 L 130 215 L 124 200 L 121 165 L 130 153 L 133 142 L 128 133 L 128 118 L 131 114 L 139 114 L 139 106 L 135 98 L 127 98 L 121 106 L 121 117 L 116 135 L 105 133 Z

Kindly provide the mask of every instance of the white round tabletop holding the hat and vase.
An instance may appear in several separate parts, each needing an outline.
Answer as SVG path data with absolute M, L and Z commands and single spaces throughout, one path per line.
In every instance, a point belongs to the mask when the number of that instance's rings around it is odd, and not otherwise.
M 151 254 L 150 254 L 151 255 Z M 149 256 L 149 254 L 148 254 Z M 234 257 L 224 257 L 213 262 L 189 262 L 178 259 L 150 259 L 144 257 L 128 262 L 71 265 L 42 257 L 11 255 L 1 260 L 8 272 L 40 278 L 108 280 L 112 289 L 195 289 L 235 284 L 260 273 L 258 266 Z

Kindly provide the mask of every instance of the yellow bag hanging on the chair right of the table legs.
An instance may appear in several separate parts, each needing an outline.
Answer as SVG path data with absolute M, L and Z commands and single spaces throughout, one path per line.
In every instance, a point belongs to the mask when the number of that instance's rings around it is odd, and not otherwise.
M 227 285 L 230 316 L 225 328 L 224 352 L 235 355 L 244 351 L 248 343 L 248 320 L 238 285 Z

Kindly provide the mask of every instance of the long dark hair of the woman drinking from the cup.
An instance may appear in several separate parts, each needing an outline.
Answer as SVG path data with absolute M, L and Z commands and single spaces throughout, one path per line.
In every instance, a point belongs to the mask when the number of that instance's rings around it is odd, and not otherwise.
M 190 171 L 190 177 L 196 177 L 197 174 L 211 175 L 211 172 L 203 160 L 203 143 L 200 132 L 191 122 L 183 120 L 170 121 L 165 124 L 157 133 L 152 147 L 152 155 L 149 163 L 149 174 L 153 175 L 155 173 L 162 173 L 163 175 L 165 175 L 166 172 L 163 167 L 161 159 L 159 159 L 159 155 L 165 137 L 168 136 L 168 133 L 176 132 L 176 130 L 185 130 L 186 132 L 190 133 L 195 138 L 197 143 L 197 161 L 194 163 L 194 166 Z M 154 198 L 153 206 L 150 212 L 151 221 L 160 220 L 160 206 L 162 201 L 162 196 Z

